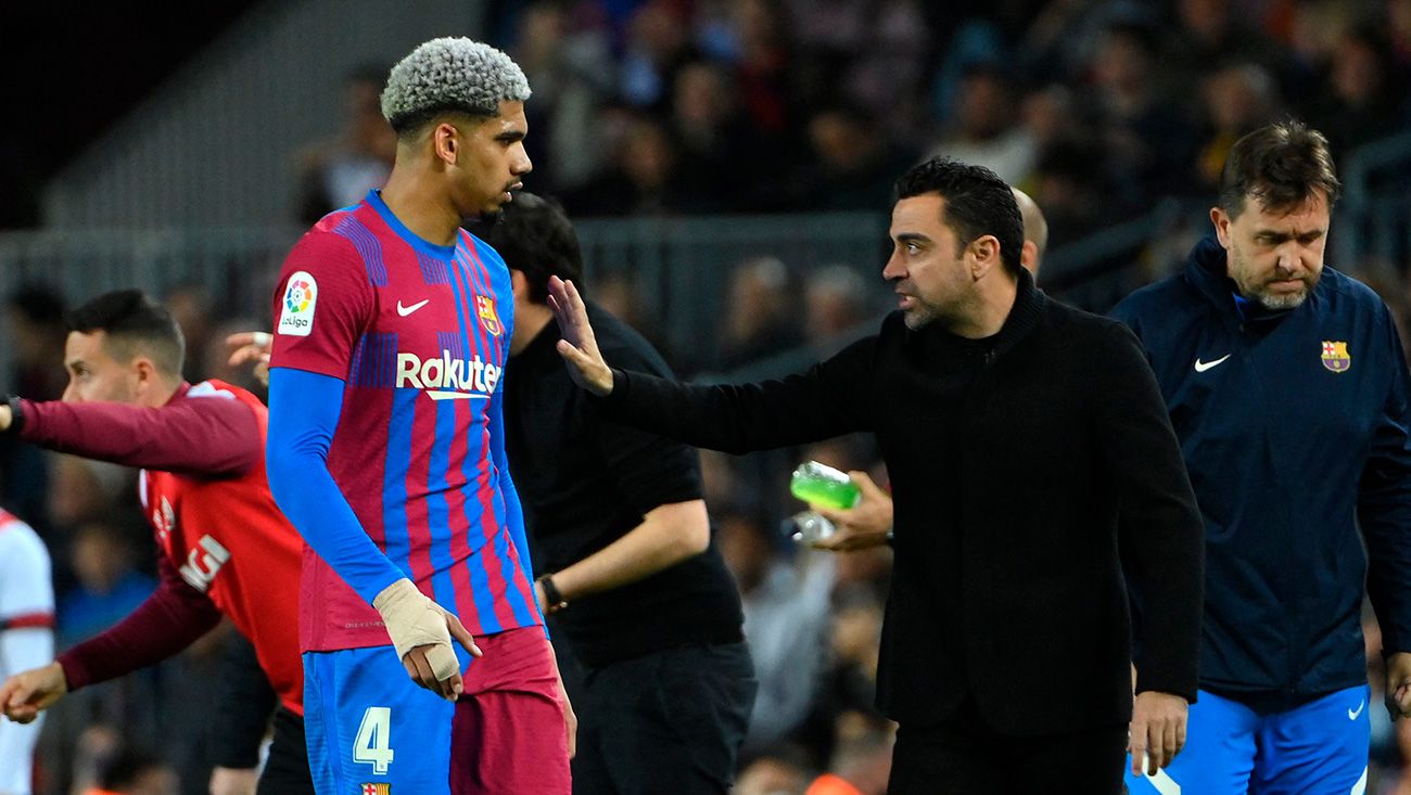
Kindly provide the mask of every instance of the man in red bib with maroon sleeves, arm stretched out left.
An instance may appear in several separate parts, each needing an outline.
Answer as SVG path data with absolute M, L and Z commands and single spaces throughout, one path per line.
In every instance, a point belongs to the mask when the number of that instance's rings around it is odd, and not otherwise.
M 260 792 L 312 792 L 298 647 L 302 543 L 265 481 L 265 407 L 237 386 L 183 382 L 181 330 L 140 290 L 102 295 L 69 326 L 63 400 L 11 398 L 0 431 L 143 467 L 161 585 L 113 629 L 7 679 L 0 706 L 11 720 L 34 720 L 69 691 L 176 654 L 224 615 L 254 644 L 281 702 Z

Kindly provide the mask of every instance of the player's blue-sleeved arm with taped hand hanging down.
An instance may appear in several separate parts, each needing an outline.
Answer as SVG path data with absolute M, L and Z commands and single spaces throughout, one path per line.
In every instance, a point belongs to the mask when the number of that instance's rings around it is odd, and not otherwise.
M 478 657 L 480 648 L 456 616 L 418 591 L 377 548 L 333 482 L 327 457 L 343 412 L 343 379 L 329 375 L 282 366 L 270 371 L 270 493 L 309 547 L 381 613 L 408 675 L 454 699 L 461 677 L 450 639 L 473 655 Z

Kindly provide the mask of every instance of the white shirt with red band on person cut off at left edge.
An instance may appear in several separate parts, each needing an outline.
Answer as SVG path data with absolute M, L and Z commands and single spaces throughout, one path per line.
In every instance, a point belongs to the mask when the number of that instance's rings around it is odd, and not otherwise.
M 0 510 L 0 681 L 54 660 L 49 553 L 28 524 Z M 40 722 L 0 719 L 0 792 L 28 795 Z

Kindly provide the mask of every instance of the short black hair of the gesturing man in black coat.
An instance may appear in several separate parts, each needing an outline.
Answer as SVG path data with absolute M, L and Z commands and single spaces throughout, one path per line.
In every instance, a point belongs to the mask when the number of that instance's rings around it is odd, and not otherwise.
M 999 240 L 999 255 L 1010 273 L 1019 273 L 1024 248 L 1024 217 L 1009 183 L 985 166 L 931 158 L 896 180 L 896 197 L 940 193 L 945 199 L 941 223 L 955 233 L 957 254 L 986 234 Z

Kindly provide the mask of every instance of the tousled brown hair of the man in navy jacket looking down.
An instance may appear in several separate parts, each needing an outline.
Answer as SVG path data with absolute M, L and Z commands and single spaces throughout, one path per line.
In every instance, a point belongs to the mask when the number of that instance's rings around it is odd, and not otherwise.
M 1260 127 L 1235 142 L 1221 172 L 1219 203 L 1235 218 L 1245 211 L 1247 199 L 1280 211 L 1292 210 L 1322 192 L 1331 210 L 1339 190 L 1342 183 L 1328 138 L 1290 118 Z

